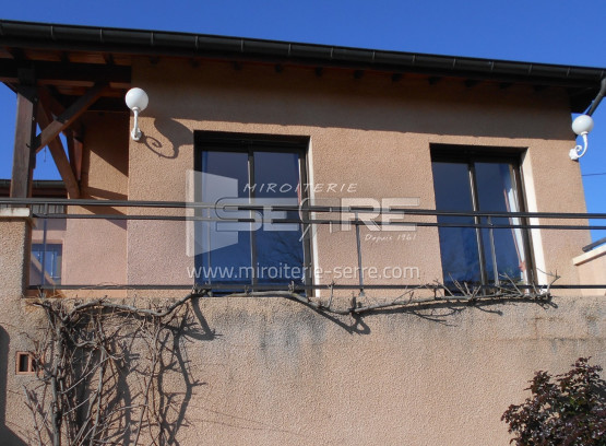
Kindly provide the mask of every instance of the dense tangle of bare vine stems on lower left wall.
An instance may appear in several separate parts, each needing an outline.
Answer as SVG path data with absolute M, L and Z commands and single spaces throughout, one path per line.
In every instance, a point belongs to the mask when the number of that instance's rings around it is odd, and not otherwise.
M 179 336 L 173 327 L 175 316 L 188 318 L 187 304 L 200 295 L 190 293 L 152 308 L 106 298 L 75 305 L 64 298 L 34 302 L 46 314 L 47 329 L 35 353 L 40 364 L 37 385 L 24 391 L 38 444 L 95 446 L 124 439 L 155 444 L 168 422 L 152 407 L 162 394 L 158 366 L 167 354 L 163 341 Z M 161 340 L 162 333 L 166 337 Z M 145 364 L 147 356 L 151 365 Z M 145 389 L 122 403 L 130 374 L 144 377 Z M 140 411 L 138 420 L 127 421 L 130 410 Z M 145 435 L 143 427 L 150 431 Z

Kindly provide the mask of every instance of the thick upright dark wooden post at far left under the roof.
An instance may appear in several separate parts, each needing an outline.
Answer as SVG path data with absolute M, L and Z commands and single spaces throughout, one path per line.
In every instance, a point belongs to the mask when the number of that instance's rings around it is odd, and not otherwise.
M 32 188 L 36 162 L 36 152 L 32 148 L 36 134 L 36 97 L 27 98 L 17 93 L 11 198 L 27 198 Z

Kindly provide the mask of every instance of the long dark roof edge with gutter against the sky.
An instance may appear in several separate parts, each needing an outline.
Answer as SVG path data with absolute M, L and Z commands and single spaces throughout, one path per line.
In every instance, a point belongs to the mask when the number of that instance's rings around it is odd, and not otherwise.
M 109 50 L 187 57 L 231 57 L 307 61 L 390 71 L 419 71 L 443 75 L 515 79 L 545 84 L 598 89 L 606 68 L 532 63 L 473 57 L 375 50 L 344 46 L 300 44 L 258 38 L 225 37 L 181 32 L 62 25 L 0 20 L 0 44 L 79 50 Z

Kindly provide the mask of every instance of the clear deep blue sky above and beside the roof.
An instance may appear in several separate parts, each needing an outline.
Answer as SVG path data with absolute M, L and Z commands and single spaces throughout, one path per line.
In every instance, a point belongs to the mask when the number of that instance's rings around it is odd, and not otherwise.
M 0 17 L 606 68 L 606 0 L 22 0 Z M 0 85 L 0 178 L 10 177 L 14 111 Z M 606 99 L 594 120 L 581 169 L 587 211 L 606 212 L 606 175 L 593 175 L 606 173 Z M 35 178 L 57 177 L 44 159 Z

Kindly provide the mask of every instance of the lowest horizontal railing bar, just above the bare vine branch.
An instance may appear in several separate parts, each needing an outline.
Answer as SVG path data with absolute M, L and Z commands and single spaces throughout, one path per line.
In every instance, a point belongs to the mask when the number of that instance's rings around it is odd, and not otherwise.
M 405 290 L 411 287 L 418 287 L 419 285 L 411 284 L 365 284 L 365 290 Z M 420 285 L 423 286 L 423 285 Z M 605 284 L 591 284 L 591 285 L 528 285 L 528 284 L 516 284 L 519 289 L 552 289 L 552 290 L 599 290 L 606 289 Z M 474 285 L 474 287 L 494 290 L 495 285 Z M 359 284 L 318 284 L 318 285 L 295 285 L 288 289 L 287 285 L 242 285 L 242 284 L 228 284 L 228 283 L 215 283 L 215 284 L 200 284 L 195 285 L 195 290 L 199 291 L 305 291 L 305 290 L 359 290 Z M 500 289 L 515 290 L 513 286 L 501 285 Z M 133 285 L 29 285 L 28 290 L 192 290 L 192 285 L 153 285 L 153 284 L 133 284 Z M 427 290 L 452 290 L 445 285 L 427 285 Z

